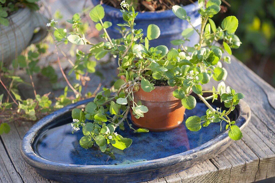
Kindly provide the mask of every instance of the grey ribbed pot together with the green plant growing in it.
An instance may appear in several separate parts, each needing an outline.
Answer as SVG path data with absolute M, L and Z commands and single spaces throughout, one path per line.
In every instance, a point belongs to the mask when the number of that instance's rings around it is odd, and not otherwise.
M 39 10 L 37 1 L 0 1 L 1 65 L 8 66 L 27 46 L 46 37 L 48 19 L 35 12 Z

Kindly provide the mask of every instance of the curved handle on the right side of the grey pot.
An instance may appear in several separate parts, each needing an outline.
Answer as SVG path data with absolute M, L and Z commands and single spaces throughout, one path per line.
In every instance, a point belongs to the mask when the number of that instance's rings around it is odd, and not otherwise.
M 33 34 L 32 39 L 29 42 L 29 45 L 32 43 L 37 43 L 46 37 L 46 35 L 48 34 L 46 23 L 49 22 L 48 18 L 34 11 L 32 11 L 31 13 L 31 19 L 33 24 L 33 30 L 35 30 L 36 28 L 40 29 L 38 32 Z

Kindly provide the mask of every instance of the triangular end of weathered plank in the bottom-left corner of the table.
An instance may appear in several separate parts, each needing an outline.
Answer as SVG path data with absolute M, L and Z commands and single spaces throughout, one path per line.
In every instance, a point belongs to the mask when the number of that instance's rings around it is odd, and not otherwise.
M 0 137 L 1 138 L 1 137 Z M 23 182 L 17 171 L 14 169 L 5 148 L 0 141 L 0 180 L 2 182 Z

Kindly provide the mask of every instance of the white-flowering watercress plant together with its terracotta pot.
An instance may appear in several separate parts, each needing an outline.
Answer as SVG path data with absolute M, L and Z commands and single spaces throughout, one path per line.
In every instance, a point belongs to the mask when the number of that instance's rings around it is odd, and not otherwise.
M 176 128 L 183 121 L 185 109 L 191 110 L 196 106 L 196 99 L 189 95 L 193 91 L 208 110 L 203 116 L 191 116 L 186 119 L 186 127 L 192 131 L 198 131 L 201 127 L 207 127 L 211 123 L 226 122 L 228 135 L 233 140 L 240 140 L 242 132 L 235 121 L 229 118 L 231 111 L 235 109 L 244 94 L 235 92 L 224 82 L 219 83 L 216 89 L 203 91 L 202 85 L 207 84 L 211 78 L 221 81 L 226 78 L 226 70 L 221 61 L 230 62 L 229 57 L 222 58 L 222 52 L 230 52 L 232 47 L 240 45 L 238 37 L 234 34 L 238 27 L 238 20 L 234 16 L 226 17 L 221 27 L 209 19 L 219 12 L 221 1 L 210 0 L 205 4 L 199 1 L 199 13 L 202 27 L 194 29 L 189 34 L 198 34 L 199 42 L 193 50 L 183 46 L 171 49 L 164 45 L 151 47 L 149 40 L 160 36 L 160 29 L 155 24 L 147 28 L 147 36 L 143 39 L 142 29 L 134 28 L 134 21 L 138 16 L 134 8 L 122 3 L 123 19 L 131 31 L 120 39 L 111 39 L 106 31 L 112 23 L 103 22 L 105 11 L 103 6 L 97 5 L 90 11 L 90 18 L 98 23 L 97 28 L 103 29 L 101 35 L 106 42 L 91 43 L 78 32 L 81 18 L 75 14 L 72 20 L 74 31 L 67 35 L 66 29 L 54 27 L 54 36 L 59 42 L 71 42 L 76 45 L 90 45 L 90 52 L 82 54 L 75 68 L 81 68 L 83 64 L 89 64 L 91 57 L 100 59 L 106 53 L 118 57 L 119 77 L 111 88 L 103 88 L 95 96 L 94 101 L 86 105 L 85 109 L 72 110 L 73 132 L 82 130 L 83 137 L 80 145 L 90 148 L 97 144 L 102 152 L 113 156 L 112 146 L 119 149 L 128 148 L 132 140 L 117 134 L 116 129 L 124 130 L 124 125 L 129 125 L 134 132 L 165 131 Z M 186 11 L 180 6 L 173 6 L 175 16 L 182 20 L 189 20 Z M 221 46 L 216 46 L 216 41 L 222 40 Z M 138 42 L 144 42 L 144 45 Z M 180 42 L 179 40 L 176 40 Z M 112 94 L 114 93 L 114 95 Z M 205 93 L 211 95 L 205 96 Z M 220 96 L 218 98 L 218 96 Z M 219 107 L 214 109 L 208 100 L 220 100 Z M 139 127 L 134 128 L 131 121 Z M 149 129 L 149 130 L 148 130 Z

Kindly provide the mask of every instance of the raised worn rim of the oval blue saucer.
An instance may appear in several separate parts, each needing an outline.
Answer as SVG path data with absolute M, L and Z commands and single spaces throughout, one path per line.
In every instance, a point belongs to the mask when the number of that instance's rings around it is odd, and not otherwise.
M 186 161 L 190 161 L 196 159 L 197 157 L 204 156 L 209 152 L 215 150 L 215 148 L 221 148 L 222 146 L 229 146 L 230 143 L 233 142 L 232 139 L 228 136 L 228 131 L 222 132 L 212 140 L 208 141 L 205 144 L 198 146 L 197 148 L 171 155 L 168 157 L 148 160 L 144 162 L 136 162 L 125 165 L 73 165 L 73 164 L 64 164 L 53 162 L 43 157 L 38 156 L 33 148 L 32 143 L 35 138 L 39 135 L 43 128 L 47 127 L 51 121 L 62 116 L 64 113 L 71 111 L 73 108 L 76 108 L 79 105 L 86 104 L 88 102 L 92 102 L 94 98 L 82 100 L 80 102 L 65 106 L 64 108 L 57 110 L 48 116 L 40 119 L 36 124 L 34 124 L 29 131 L 24 135 L 23 140 L 20 144 L 20 151 L 23 159 L 32 167 L 49 172 L 60 172 L 65 174 L 124 174 L 124 173 L 133 173 L 139 171 L 148 171 L 155 170 L 161 167 L 165 168 L 167 166 L 173 166 L 176 164 L 180 164 Z M 240 101 L 240 103 L 236 106 L 238 110 L 238 116 L 236 120 L 236 125 L 242 123 L 240 129 L 243 130 L 244 127 L 248 124 L 251 118 L 251 110 L 248 104 L 244 101 Z

